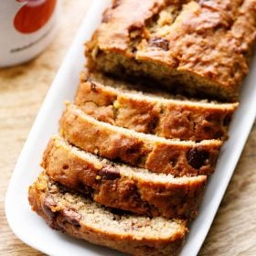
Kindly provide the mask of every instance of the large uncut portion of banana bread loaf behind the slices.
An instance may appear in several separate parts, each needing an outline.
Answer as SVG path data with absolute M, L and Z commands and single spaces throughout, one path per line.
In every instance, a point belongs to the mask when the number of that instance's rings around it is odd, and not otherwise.
M 113 1 L 87 43 L 88 66 L 238 101 L 255 45 L 255 6 L 256 0 Z

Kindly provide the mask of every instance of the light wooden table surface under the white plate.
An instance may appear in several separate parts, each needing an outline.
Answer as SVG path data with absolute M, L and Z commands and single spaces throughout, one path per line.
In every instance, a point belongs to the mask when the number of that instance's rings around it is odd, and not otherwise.
M 42 255 L 9 229 L 5 191 L 39 107 L 89 5 L 89 0 L 63 0 L 59 34 L 47 50 L 25 65 L 0 70 L 0 255 Z M 200 255 L 256 255 L 256 125 Z

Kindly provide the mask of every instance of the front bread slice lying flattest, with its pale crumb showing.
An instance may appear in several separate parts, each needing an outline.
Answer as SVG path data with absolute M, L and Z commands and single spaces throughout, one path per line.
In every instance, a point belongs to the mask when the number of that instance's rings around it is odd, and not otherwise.
M 51 228 L 132 255 L 177 255 L 187 233 L 184 220 L 115 213 L 69 193 L 45 173 L 29 187 L 29 202 Z

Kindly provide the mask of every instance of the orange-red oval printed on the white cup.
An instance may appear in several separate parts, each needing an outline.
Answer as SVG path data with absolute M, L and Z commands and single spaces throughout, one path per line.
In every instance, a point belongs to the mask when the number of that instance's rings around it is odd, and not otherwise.
M 43 27 L 56 6 L 57 0 L 16 0 L 25 3 L 14 18 L 14 26 L 17 31 L 28 34 L 36 32 Z

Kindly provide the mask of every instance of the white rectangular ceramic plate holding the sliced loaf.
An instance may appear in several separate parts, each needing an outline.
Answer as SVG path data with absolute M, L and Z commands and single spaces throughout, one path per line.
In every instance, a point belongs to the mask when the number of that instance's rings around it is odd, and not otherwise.
M 21 155 L 16 164 L 5 197 L 5 213 L 16 236 L 31 247 L 48 255 L 123 255 L 82 240 L 75 240 L 48 226 L 34 212 L 27 201 L 27 189 L 41 171 L 39 163 L 49 136 L 58 131 L 58 121 L 64 101 L 72 101 L 79 84 L 80 70 L 84 64 L 84 41 L 101 22 L 101 13 L 108 1 L 93 1 L 77 37 L 52 83 L 48 95 L 37 115 Z M 219 203 L 228 187 L 230 177 L 240 158 L 246 139 L 256 115 L 256 58 L 251 72 L 243 83 L 240 108 L 235 113 L 229 130 L 229 141 L 222 147 L 216 173 L 211 176 L 204 202 L 197 219 L 190 227 L 181 255 L 197 255 L 208 229 L 219 208 Z

